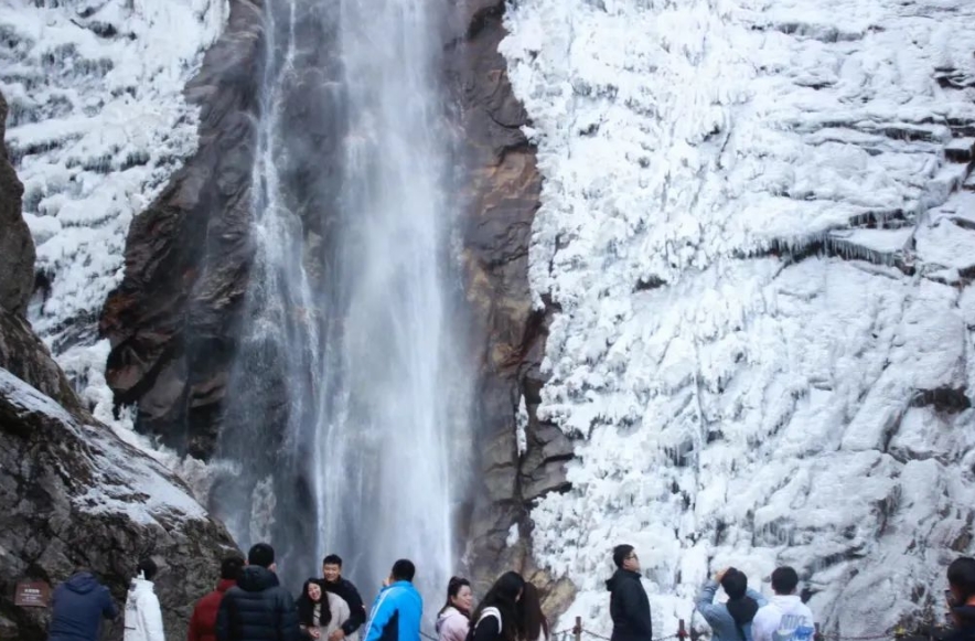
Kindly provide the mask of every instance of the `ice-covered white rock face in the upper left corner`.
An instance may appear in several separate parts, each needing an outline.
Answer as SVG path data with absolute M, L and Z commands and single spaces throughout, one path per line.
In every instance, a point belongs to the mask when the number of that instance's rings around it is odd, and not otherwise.
M 227 0 L 6 0 L 7 143 L 42 284 L 31 321 L 55 355 L 94 340 L 132 216 L 195 149 L 182 92 L 227 11 Z

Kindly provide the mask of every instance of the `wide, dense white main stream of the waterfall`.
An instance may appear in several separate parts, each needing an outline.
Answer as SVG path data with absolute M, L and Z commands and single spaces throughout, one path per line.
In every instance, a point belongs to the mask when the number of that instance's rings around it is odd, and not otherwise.
M 398 557 L 438 597 L 454 565 L 468 394 L 450 277 L 450 143 L 433 0 L 349 0 L 349 135 L 321 416 L 319 528 L 376 586 Z M 459 296 L 457 297 L 459 298 Z M 468 447 L 470 447 L 468 445 Z

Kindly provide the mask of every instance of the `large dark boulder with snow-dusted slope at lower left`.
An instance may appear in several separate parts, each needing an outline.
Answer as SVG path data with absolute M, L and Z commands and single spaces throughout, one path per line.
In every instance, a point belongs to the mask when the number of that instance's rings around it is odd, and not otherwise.
M 20 192 L 7 189 L 19 183 L 6 161 L 0 173 L 9 238 L 25 226 Z M 32 274 L 28 258 L 2 252 L 0 271 L 17 273 L 26 261 Z M 212 589 L 233 541 L 179 479 L 92 417 L 22 318 L 25 298 L 18 296 L 18 305 L 7 308 L 4 300 L 0 309 L 0 639 L 47 637 L 50 610 L 14 606 L 18 581 L 55 586 L 85 567 L 121 607 L 136 563 L 147 555 L 162 568 L 157 594 L 167 637 L 182 639 L 194 601 Z M 111 639 L 121 639 L 120 620 L 109 628 Z

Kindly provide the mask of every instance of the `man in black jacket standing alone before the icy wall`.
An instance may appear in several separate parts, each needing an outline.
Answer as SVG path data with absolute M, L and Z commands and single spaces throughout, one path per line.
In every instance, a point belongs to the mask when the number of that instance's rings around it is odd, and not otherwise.
M 617 571 L 606 581 L 613 619 L 612 641 L 650 641 L 653 638 L 650 599 L 640 583 L 640 559 L 633 546 L 615 546 L 613 563 Z

